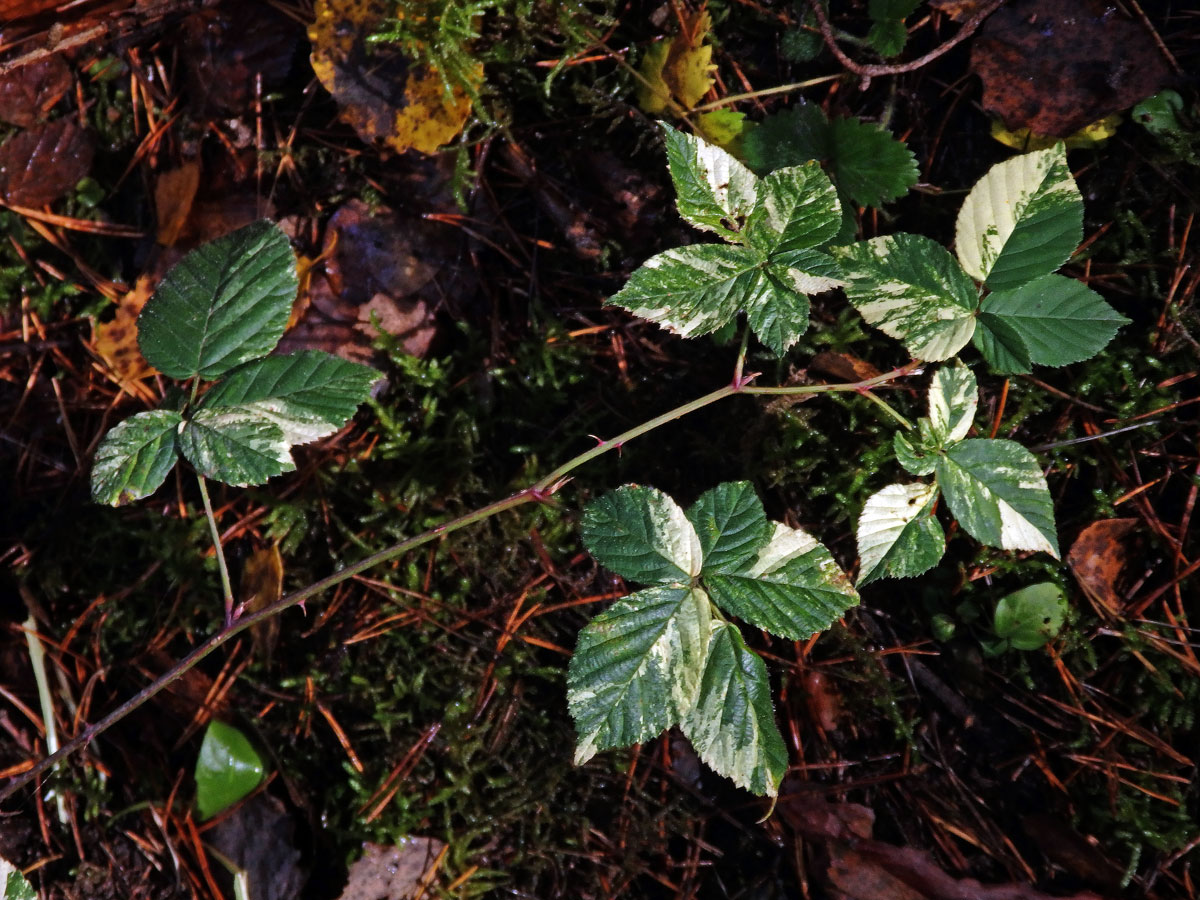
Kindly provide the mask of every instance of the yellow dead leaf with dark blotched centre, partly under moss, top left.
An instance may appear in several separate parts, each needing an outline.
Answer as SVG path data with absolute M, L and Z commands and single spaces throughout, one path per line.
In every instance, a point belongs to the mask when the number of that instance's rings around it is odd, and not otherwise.
M 366 38 L 385 10 L 380 0 L 317 0 L 317 18 L 308 26 L 312 67 L 337 101 L 342 119 L 365 142 L 382 140 L 397 152 L 432 154 L 462 131 L 470 96 L 462 85 L 448 91 L 440 73 L 390 47 L 368 50 Z M 473 86 L 482 78 L 480 65 Z

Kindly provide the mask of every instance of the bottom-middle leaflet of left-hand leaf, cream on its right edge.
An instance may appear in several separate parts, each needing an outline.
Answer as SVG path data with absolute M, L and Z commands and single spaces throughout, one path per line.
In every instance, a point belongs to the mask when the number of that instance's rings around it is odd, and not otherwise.
M 179 434 L 179 448 L 197 472 L 240 487 L 294 470 L 290 446 L 278 425 L 239 407 L 200 409 Z

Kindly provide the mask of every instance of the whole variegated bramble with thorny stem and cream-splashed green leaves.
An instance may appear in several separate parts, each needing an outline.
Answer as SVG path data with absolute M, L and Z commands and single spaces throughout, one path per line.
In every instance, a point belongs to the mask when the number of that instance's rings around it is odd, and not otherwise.
M 600 442 L 511 497 L 348 564 L 264 610 L 229 610 L 216 635 L 0 797 L 246 628 L 458 528 L 546 502 L 589 460 L 739 394 L 857 394 L 904 428 L 893 442 L 899 463 L 932 479 L 890 485 L 866 500 L 857 527 L 859 587 L 937 564 L 946 548 L 936 517 L 940 496 L 982 544 L 1058 556 L 1052 502 L 1036 457 L 1012 440 L 971 437 L 978 386 L 966 364 L 934 373 L 928 415 L 916 426 L 874 390 L 918 373 L 925 362 L 950 360 L 972 341 L 994 370 L 1007 373 L 1080 361 L 1111 340 L 1124 319 L 1084 284 L 1054 274 L 1078 246 L 1082 222 L 1082 198 L 1062 145 L 995 166 L 962 205 L 952 256 L 911 234 L 830 246 L 841 204 L 817 162 L 758 178 L 728 152 L 662 127 L 680 215 L 722 242 L 652 257 L 608 302 L 685 337 L 744 317 L 731 382 Z M 187 400 L 133 416 L 109 434 L 92 479 L 98 500 L 149 494 L 181 452 L 200 476 L 216 540 L 205 476 L 265 480 L 290 468 L 292 444 L 328 434 L 354 413 L 376 378 L 372 370 L 320 354 L 264 358 L 283 331 L 294 278 L 287 241 L 266 223 L 196 251 L 168 275 L 143 312 L 140 340 L 151 364 L 190 382 Z M 836 287 L 868 323 L 900 340 L 913 361 L 851 384 L 752 384 L 756 376 L 743 373 L 750 334 L 784 355 L 808 328 L 809 294 Z M 214 377 L 222 380 L 199 392 L 200 380 Z M 719 485 L 686 510 L 650 487 L 626 485 L 587 506 L 582 536 L 600 563 L 646 587 L 580 635 L 568 673 L 576 761 L 679 725 L 716 772 L 776 794 L 787 751 L 767 668 L 727 617 L 803 640 L 858 602 L 850 576 L 816 538 L 769 522 L 746 482 Z M 222 578 L 228 610 L 223 570 Z M 1031 598 L 1038 602 L 1025 602 Z M 1013 595 L 997 608 L 995 632 L 1006 646 L 1040 646 L 1061 625 L 1061 604 L 1046 612 L 1042 593 L 1031 598 Z

